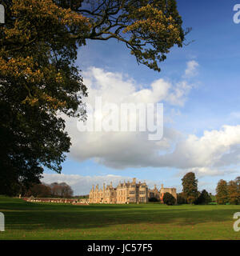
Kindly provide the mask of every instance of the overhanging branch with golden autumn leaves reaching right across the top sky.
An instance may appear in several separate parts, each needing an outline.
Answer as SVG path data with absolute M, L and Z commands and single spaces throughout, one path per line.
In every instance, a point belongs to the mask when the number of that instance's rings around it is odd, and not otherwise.
M 65 4 L 71 1 L 56 1 Z M 158 62 L 174 45 L 182 47 L 190 29 L 182 29 L 175 0 L 78 1 L 70 6 L 89 18 L 87 39 L 124 42 L 139 63 L 160 71 Z M 75 34 L 74 38 L 82 38 Z

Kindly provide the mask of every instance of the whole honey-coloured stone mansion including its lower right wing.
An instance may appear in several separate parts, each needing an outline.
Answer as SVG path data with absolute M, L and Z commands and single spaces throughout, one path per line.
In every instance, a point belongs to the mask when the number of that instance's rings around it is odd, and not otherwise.
M 156 185 L 154 190 L 149 190 L 146 182 L 136 182 L 133 178 L 132 182 L 119 182 L 117 187 L 113 187 L 112 182 L 110 185 L 99 189 L 98 185 L 90 190 L 89 202 L 90 203 L 130 203 L 130 202 L 148 202 L 149 198 L 157 198 L 162 202 L 163 195 L 168 192 L 177 199 L 177 192 L 175 188 L 164 188 L 163 185 L 160 190 Z

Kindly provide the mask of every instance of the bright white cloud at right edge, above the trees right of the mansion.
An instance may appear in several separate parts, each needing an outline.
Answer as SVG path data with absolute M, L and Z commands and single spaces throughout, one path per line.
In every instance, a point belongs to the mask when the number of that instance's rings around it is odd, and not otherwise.
M 237 164 L 240 126 L 222 126 L 221 130 L 206 130 L 202 137 L 194 134 L 178 142 L 171 154 L 158 159 L 164 166 L 194 170 L 201 175 L 230 172 L 226 166 Z

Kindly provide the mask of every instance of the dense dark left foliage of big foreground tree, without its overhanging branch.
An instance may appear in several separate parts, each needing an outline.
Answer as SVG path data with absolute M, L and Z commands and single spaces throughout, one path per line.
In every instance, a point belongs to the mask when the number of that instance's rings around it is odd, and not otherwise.
M 90 25 L 87 18 L 50 0 L 3 4 L 0 194 L 11 195 L 39 183 L 43 166 L 62 170 L 70 138 L 59 113 L 78 116 L 82 96 L 86 96 L 86 86 L 74 66 L 77 48 L 69 30 L 81 34 Z

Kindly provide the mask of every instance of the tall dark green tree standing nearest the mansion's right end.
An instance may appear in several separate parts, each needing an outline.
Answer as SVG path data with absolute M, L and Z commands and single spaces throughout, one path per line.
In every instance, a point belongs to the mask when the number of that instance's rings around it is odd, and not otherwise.
M 193 172 L 185 174 L 182 178 L 182 192 L 186 201 L 190 204 L 198 198 L 198 179 L 195 178 Z

